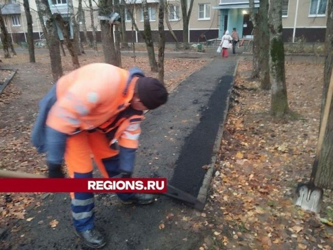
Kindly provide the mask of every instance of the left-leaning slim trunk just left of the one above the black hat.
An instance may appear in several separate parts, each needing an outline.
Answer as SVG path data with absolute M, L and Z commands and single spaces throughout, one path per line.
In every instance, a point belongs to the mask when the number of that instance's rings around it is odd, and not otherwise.
M 157 72 L 157 62 L 155 58 L 154 43 L 152 37 L 152 30 L 150 28 L 149 13 L 148 13 L 148 4 L 147 0 L 142 0 L 142 9 L 143 9 L 143 27 L 144 27 L 144 37 L 145 45 L 147 46 L 148 57 L 150 69 L 153 72 Z

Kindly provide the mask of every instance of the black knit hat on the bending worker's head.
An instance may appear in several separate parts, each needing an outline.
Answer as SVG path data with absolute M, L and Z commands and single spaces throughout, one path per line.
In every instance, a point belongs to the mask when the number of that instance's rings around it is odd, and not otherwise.
M 168 101 L 168 91 L 157 79 L 141 77 L 136 83 L 139 99 L 147 108 L 155 109 Z

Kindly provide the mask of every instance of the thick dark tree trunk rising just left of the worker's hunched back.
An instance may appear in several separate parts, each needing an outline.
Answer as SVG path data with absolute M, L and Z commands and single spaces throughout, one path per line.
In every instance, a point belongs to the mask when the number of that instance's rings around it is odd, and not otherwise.
M 47 0 L 36 0 L 38 15 L 41 20 L 45 20 L 45 28 L 47 34 L 45 38 L 49 47 L 51 70 L 53 80 L 57 81 L 63 75 L 63 67 L 61 65 L 61 56 L 59 49 L 59 37 L 55 20 L 52 17 L 49 2 Z

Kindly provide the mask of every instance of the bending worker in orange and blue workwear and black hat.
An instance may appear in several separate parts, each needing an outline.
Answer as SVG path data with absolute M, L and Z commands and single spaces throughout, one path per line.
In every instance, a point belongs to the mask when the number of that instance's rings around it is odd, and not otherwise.
M 93 156 L 105 178 L 130 177 L 138 148 L 143 110 L 166 103 L 168 92 L 138 69 L 86 65 L 61 77 L 39 103 L 32 142 L 47 152 L 50 178 L 92 178 Z M 150 194 L 117 194 L 125 204 L 148 204 Z M 94 248 L 106 244 L 94 227 L 94 194 L 72 193 L 75 233 Z

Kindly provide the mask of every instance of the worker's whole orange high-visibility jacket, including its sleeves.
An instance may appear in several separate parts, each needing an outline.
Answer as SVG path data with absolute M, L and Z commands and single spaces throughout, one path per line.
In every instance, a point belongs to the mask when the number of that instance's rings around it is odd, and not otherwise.
M 60 164 L 67 136 L 81 130 L 99 129 L 108 134 L 110 144 L 116 140 L 122 147 L 137 148 L 142 111 L 122 112 L 130 106 L 136 76 L 144 75 L 139 69 L 127 71 L 96 63 L 61 77 L 56 84 L 56 101 L 47 109 L 48 161 Z M 119 113 L 126 115 L 118 117 Z

